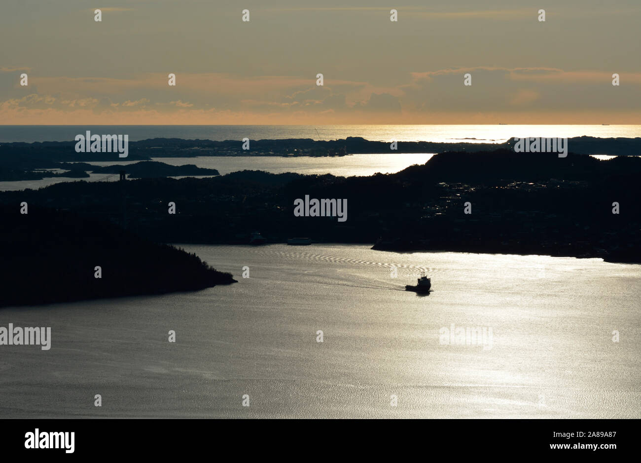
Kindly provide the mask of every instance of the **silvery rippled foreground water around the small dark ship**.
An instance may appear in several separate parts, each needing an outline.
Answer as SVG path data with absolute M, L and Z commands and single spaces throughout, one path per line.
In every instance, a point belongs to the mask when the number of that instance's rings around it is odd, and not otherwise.
M 0 416 L 641 417 L 639 265 L 182 247 L 238 283 L 0 310 L 52 332 L 49 351 L 0 346 Z M 420 271 L 429 296 L 404 291 Z M 440 343 L 452 324 L 491 327 L 491 348 Z

